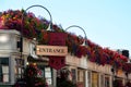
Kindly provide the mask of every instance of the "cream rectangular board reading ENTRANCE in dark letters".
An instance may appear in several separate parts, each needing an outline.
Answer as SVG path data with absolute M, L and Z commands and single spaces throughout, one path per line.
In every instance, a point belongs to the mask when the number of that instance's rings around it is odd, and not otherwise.
M 63 46 L 36 46 L 36 54 L 66 57 L 68 54 L 68 47 L 63 47 Z

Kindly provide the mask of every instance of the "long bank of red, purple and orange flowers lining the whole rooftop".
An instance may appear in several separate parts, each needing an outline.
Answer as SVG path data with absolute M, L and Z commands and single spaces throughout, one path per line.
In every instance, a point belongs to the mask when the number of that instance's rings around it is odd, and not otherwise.
M 0 14 L 0 24 L 2 24 L 2 26 L 0 26 L 1 29 L 16 29 L 22 32 L 23 36 L 26 38 L 37 38 L 38 44 L 48 44 L 49 34 L 46 29 L 50 22 L 46 18 L 36 17 L 31 12 L 26 13 L 24 10 L 4 11 Z M 52 24 L 51 28 L 53 28 L 53 32 L 64 32 L 55 24 Z M 124 63 L 128 61 L 127 57 L 110 49 L 102 48 L 91 40 L 78 37 L 74 34 L 67 33 L 67 35 L 68 38 L 66 40 L 66 45 L 68 46 L 68 50 L 71 54 L 74 54 L 78 58 L 82 58 L 83 55 L 87 57 L 90 61 L 99 65 L 110 64 L 118 69 L 126 66 Z M 87 46 L 82 46 L 84 40 L 88 44 Z

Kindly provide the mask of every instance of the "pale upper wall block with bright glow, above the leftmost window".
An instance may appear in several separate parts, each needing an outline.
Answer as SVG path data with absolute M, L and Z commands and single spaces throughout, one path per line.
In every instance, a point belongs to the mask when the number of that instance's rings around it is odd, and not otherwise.
M 0 52 L 17 52 L 16 37 L 19 35 L 16 30 L 0 30 Z

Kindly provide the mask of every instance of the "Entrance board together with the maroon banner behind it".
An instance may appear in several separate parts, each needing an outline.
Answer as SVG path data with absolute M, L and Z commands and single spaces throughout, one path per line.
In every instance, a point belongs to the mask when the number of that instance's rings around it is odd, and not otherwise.
M 67 34 L 49 32 L 49 46 L 36 46 L 37 55 L 48 55 L 49 65 L 55 70 L 60 70 L 66 65 L 68 47 L 66 46 Z

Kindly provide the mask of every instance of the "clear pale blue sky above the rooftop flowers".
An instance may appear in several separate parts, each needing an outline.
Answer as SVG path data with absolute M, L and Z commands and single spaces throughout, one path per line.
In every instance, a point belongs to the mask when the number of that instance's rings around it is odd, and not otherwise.
M 131 0 L 0 0 L 0 11 L 26 10 L 35 4 L 45 7 L 52 23 L 63 29 L 78 25 L 92 42 L 112 50 L 126 49 L 131 55 Z M 27 12 L 50 20 L 49 13 L 40 7 Z M 85 37 L 76 27 L 68 32 Z

